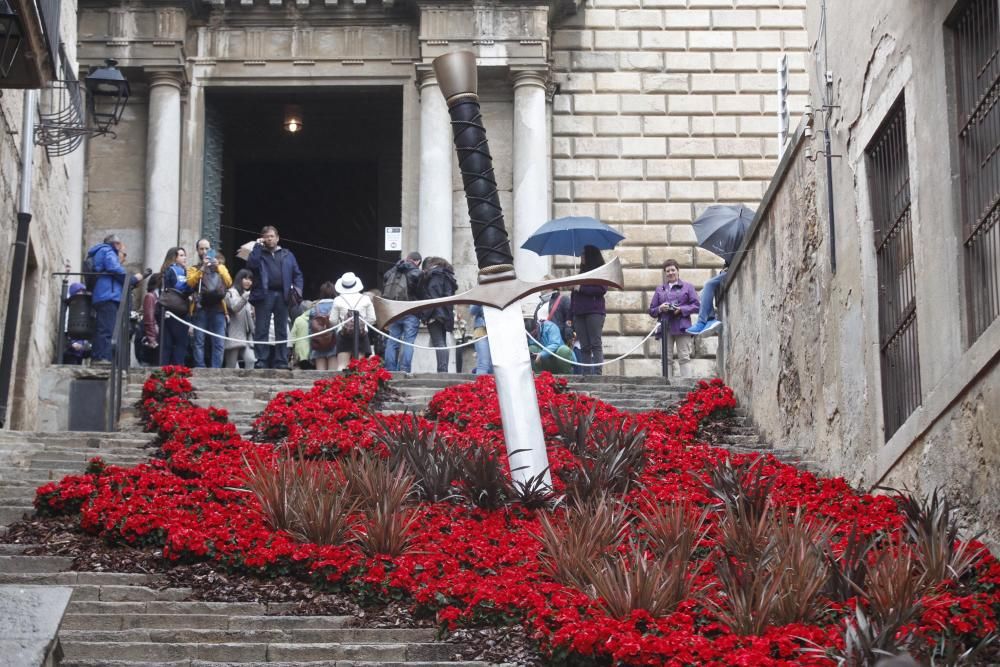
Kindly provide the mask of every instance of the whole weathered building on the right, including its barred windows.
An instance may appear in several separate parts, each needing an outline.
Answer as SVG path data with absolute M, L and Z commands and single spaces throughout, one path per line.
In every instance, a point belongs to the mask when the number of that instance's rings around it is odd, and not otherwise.
M 828 7 L 808 17 L 817 113 L 728 279 L 723 375 L 772 441 L 867 487 L 941 488 L 996 545 L 997 4 Z

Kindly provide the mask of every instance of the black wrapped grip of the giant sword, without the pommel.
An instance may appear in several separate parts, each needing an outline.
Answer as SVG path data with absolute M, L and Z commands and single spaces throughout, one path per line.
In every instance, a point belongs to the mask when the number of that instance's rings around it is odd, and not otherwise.
M 465 201 L 469 206 L 469 222 L 479 270 L 510 267 L 514 256 L 504 225 L 503 209 L 500 208 L 493 158 L 486 141 L 479 101 L 471 96 L 461 98 L 449 106 L 448 113 L 455 134 L 455 150 L 465 187 Z

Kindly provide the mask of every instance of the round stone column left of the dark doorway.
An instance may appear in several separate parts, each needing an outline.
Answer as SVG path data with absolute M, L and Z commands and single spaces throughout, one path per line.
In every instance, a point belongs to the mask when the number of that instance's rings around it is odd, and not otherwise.
M 146 138 L 144 266 L 159 267 L 167 250 L 177 245 L 180 178 L 181 78 L 174 72 L 153 72 Z

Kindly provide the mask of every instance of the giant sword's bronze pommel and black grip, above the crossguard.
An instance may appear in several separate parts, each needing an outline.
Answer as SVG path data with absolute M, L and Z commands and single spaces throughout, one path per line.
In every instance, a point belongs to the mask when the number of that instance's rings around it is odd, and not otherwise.
M 451 116 L 479 265 L 479 282 L 512 279 L 515 277 L 514 255 L 479 106 L 476 55 L 471 51 L 456 51 L 439 56 L 434 59 L 434 73 Z

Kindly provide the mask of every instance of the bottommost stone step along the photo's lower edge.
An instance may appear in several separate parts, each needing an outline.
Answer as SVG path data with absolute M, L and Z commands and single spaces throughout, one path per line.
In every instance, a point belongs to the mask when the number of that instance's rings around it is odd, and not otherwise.
M 225 663 L 314 661 L 446 661 L 455 652 L 449 644 L 436 643 L 313 643 L 225 642 L 157 643 L 60 640 L 63 664 L 79 660 L 151 661 L 207 660 Z

